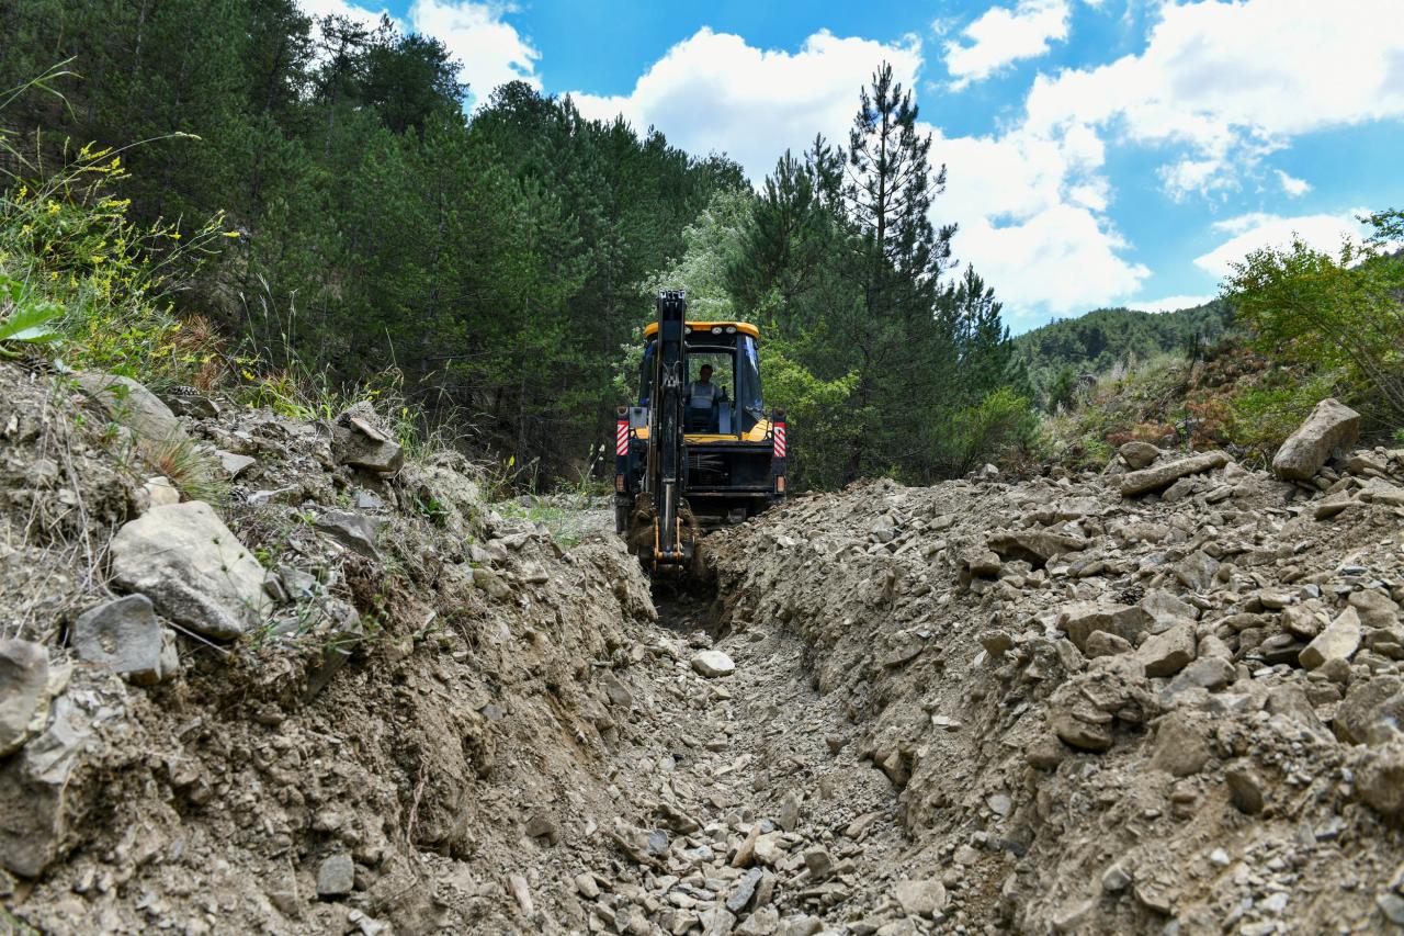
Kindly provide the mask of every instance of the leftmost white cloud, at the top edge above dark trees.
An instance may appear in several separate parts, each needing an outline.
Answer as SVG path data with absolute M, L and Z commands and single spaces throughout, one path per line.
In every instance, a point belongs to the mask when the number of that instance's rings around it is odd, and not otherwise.
M 298 0 L 309 17 L 320 20 L 340 15 L 366 27 L 376 27 L 389 15 L 385 7 L 364 7 L 350 0 Z M 505 15 L 515 8 L 501 3 L 472 0 L 414 0 L 407 20 L 390 17 L 400 31 L 434 37 L 459 62 L 458 80 L 469 86 L 475 105 L 487 101 L 498 84 L 526 82 L 541 87 L 536 60 L 541 52 L 522 37 Z

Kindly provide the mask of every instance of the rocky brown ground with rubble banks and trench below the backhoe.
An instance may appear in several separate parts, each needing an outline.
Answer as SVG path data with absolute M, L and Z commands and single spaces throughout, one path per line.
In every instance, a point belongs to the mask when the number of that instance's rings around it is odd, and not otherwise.
M 1344 408 L 1273 474 L 800 498 L 650 596 L 368 408 L 111 384 L 0 364 L 13 929 L 1404 921 L 1404 453 Z

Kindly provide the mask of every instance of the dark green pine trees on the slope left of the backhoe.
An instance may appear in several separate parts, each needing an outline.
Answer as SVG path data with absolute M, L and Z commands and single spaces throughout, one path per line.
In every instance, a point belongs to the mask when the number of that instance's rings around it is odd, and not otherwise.
M 174 295 L 181 318 L 331 386 L 397 368 L 423 422 L 559 474 L 608 426 L 650 274 L 741 184 L 525 84 L 475 89 L 469 115 L 437 41 L 293 0 L 15 0 L 0 31 L 0 89 L 65 59 L 80 76 L 0 114 L 0 169 L 42 181 L 66 149 L 128 148 L 107 197 L 166 232 L 153 261 L 220 212 L 240 235 Z

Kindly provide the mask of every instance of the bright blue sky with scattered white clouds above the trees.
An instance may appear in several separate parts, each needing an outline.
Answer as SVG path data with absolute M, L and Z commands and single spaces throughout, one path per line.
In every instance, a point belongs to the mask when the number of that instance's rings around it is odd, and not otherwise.
M 1332 249 L 1404 207 L 1404 0 L 300 1 L 386 11 L 479 96 L 521 77 L 754 181 L 844 139 L 889 60 L 948 164 L 934 215 L 1015 332 L 1192 305 L 1252 247 Z

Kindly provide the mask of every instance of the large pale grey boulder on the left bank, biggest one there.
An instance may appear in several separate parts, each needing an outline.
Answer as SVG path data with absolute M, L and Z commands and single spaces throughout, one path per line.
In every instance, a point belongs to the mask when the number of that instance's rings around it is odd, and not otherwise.
M 204 502 L 152 507 L 112 538 L 112 578 L 166 618 L 233 639 L 267 618 L 264 569 Z

